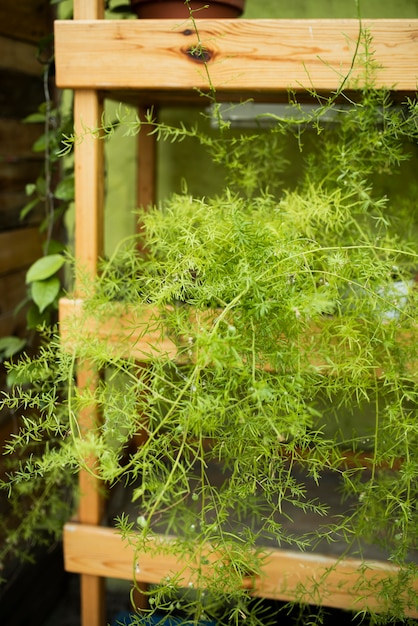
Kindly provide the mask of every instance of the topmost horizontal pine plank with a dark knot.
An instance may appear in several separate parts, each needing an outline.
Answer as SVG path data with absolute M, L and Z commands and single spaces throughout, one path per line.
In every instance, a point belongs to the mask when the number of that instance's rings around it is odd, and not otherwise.
M 418 20 L 364 20 L 379 65 L 376 86 L 415 92 Z M 348 73 L 357 20 L 202 20 L 199 34 L 213 85 L 242 95 L 335 90 Z M 57 85 L 186 94 L 208 88 L 178 20 L 55 22 Z

